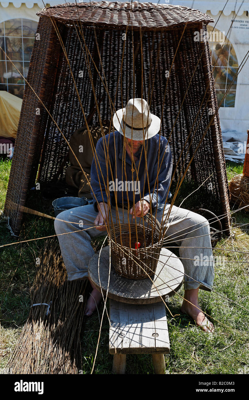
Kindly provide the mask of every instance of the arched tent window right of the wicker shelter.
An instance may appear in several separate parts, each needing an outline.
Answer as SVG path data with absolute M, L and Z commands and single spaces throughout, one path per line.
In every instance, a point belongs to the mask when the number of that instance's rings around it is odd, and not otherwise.
M 208 31 L 212 32 L 213 27 L 208 26 Z M 216 28 L 214 32 L 219 32 Z M 222 38 L 222 32 L 219 32 L 219 38 Z M 235 78 L 238 71 L 238 60 L 235 54 L 235 50 L 231 42 L 224 36 L 225 42 L 217 42 L 215 38 L 218 35 L 209 36 L 209 47 L 211 60 L 213 65 L 213 77 L 215 80 L 215 88 L 217 95 L 218 105 L 221 102 L 221 107 L 234 107 L 235 106 L 235 94 L 237 86 L 237 78 Z M 214 41 L 212 41 L 214 39 Z M 231 85 L 231 86 L 230 86 Z M 223 96 L 225 92 L 227 95 L 224 100 Z

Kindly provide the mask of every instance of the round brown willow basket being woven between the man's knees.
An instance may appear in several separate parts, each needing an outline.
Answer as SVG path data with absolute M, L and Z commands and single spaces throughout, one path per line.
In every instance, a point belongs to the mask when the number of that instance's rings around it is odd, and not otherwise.
M 154 217 L 153 221 L 153 244 L 152 229 L 149 226 L 121 224 L 121 228 L 116 225 L 110 230 L 111 262 L 121 276 L 145 279 L 155 273 L 162 241 L 159 241 L 160 224 Z M 141 244 L 139 249 L 135 249 L 137 240 Z

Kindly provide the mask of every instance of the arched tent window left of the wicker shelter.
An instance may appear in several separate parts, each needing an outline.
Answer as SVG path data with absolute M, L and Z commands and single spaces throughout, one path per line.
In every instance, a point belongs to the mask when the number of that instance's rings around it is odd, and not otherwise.
M 22 75 L 27 78 L 38 22 L 16 18 L 0 23 L 0 45 Z M 0 90 L 23 97 L 25 81 L 0 50 Z

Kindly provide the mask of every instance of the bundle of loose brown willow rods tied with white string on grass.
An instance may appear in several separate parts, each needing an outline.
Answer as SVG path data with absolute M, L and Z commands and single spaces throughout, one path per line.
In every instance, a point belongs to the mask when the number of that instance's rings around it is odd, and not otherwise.
M 67 281 L 57 240 L 47 241 L 39 257 L 30 305 L 50 309 L 30 308 L 8 368 L 13 374 L 78 374 L 86 281 Z

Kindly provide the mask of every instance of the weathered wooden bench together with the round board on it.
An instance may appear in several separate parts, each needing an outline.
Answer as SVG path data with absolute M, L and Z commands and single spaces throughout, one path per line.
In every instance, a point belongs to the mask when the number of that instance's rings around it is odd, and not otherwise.
M 134 280 L 117 274 L 109 246 L 96 253 L 88 265 L 90 282 L 110 297 L 109 351 L 113 371 L 125 373 L 126 354 L 151 354 L 155 374 L 165 373 L 164 355 L 169 353 L 165 304 L 181 287 L 183 264 L 166 248 L 161 249 L 155 275 Z M 110 278 L 109 278 L 110 273 Z

